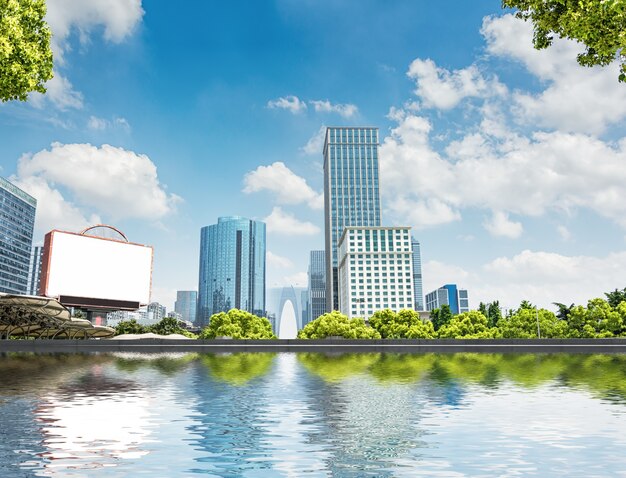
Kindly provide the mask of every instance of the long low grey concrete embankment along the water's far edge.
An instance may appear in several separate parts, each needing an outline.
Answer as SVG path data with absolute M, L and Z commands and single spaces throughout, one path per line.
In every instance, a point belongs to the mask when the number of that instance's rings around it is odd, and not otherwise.
M 321 353 L 626 353 L 618 339 L 484 340 L 0 340 L 0 353 L 321 352 Z

